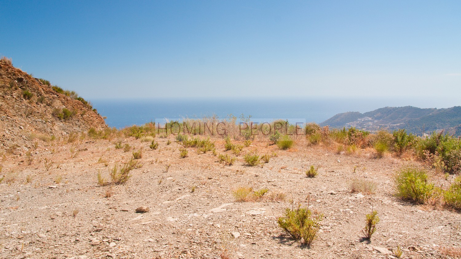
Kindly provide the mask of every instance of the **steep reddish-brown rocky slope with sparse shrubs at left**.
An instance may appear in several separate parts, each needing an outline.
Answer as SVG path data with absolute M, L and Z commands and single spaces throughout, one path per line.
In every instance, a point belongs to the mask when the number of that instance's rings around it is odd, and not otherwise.
M 57 92 L 59 91 L 59 92 Z M 61 92 L 61 93 L 60 93 Z M 67 96 L 21 69 L 0 60 L 0 149 L 27 150 L 38 140 L 106 127 L 91 104 L 75 92 Z

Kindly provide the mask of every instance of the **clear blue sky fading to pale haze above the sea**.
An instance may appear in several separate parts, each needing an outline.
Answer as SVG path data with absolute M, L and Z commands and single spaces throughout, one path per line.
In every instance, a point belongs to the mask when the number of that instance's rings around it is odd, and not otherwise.
M 0 0 L 0 13 L 0 55 L 89 99 L 461 97 L 460 0 Z

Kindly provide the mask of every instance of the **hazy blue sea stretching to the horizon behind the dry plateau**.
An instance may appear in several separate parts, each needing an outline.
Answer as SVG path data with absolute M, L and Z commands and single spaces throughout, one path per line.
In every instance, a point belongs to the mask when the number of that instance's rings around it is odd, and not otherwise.
M 320 123 L 347 111 L 361 113 L 386 106 L 449 108 L 456 100 L 437 98 L 157 98 L 94 99 L 93 107 L 107 117 L 110 127 L 123 128 L 151 121 L 229 115 L 252 118 L 290 119 Z

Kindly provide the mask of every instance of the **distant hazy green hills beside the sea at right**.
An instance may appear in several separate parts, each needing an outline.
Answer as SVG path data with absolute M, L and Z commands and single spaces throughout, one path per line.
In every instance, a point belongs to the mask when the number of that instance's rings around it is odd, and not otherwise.
M 405 128 L 421 135 L 444 130 L 461 135 L 461 106 L 447 109 L 421 109 L 412 106 L 384 107 L 366 113 L 345 112 L 320 123 L 321 126 L 357 127 L 368 131 Z

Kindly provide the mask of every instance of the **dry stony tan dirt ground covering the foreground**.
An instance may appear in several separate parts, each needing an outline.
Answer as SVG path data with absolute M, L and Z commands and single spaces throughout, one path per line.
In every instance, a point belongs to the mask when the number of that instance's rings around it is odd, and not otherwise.
M 115 149 L 115 139 L 41 143 L 30 165 L 25 153 L 7 155 L 0 161 L 6 176 L 0 184 L 0 258 L 393 258 L 374 247 L 397 246 L 402 258 L 447 258 L 442 247 L 461 246 L 459 213 L 393 196 L 393 174 L 408 161 L 376 159 L 366 151 L 338 155 L 303 141 L 291 150 L 259 142 L 243 153 L 276 152 L 269 163 L 244 166 L 241 155 L 224 166 L 211 152 L 192 148 L 179 158 L 180 145 L 169 138 L 169 145 L 156 138 L 157 150 L 123 139 L 142 148 L 143 166 L 119 185 L 99 186 L 96 179 L 98 170 L 108 177 L 116 162 L 132 156 L 132 150 Z M 221 139 L 216 148 L 231 154 Z M 45 158 L 53 161 L 49 171 Z M 310 165 L 320 166 L 315 178 L 304 173 Z M 354 178 L 375 181 L 376 193 L 351 193 Z M 266 196 L 283 192 L 286 200 L 236 202 L 232 191 L 238 187 L 267 188 Z M 310 248 L 278 227 L 290 200 L 325 215 Z M 150 211 L 136 213 L 140 206 Z M 367 242 L 361 231 L 372 207 L 381 221 Z

